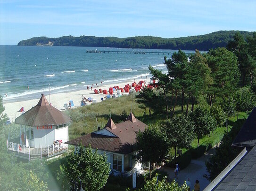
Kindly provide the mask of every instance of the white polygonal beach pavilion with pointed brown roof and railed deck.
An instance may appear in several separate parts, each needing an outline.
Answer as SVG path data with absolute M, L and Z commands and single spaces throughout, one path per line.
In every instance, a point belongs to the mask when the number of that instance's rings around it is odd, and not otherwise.
M 31 160 L 52 157 L 67 151 L 69 116 L 52 107 L 45 96 L 35 107 L 15 119 L 20 124 L 19 137 L 8 140 L 8 151 Z

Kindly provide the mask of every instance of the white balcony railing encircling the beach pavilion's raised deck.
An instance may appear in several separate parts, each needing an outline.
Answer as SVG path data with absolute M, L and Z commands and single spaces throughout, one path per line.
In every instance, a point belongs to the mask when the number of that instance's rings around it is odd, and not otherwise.
M 14 142 L 8 142 L 7 140 L 7 149 L 8 151 L 15 152 L 16 156 L 30 161 L 33 158 L 49 158 L 60 153 L 64 153 L 67 151 L 67 145 L 63 143 L 54 143 L 47 147 L 33 148 Z

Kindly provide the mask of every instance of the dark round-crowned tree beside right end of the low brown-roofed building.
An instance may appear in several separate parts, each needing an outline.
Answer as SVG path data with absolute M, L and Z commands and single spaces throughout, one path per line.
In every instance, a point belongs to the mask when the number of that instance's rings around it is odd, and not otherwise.
M 165 159 L 169 145 L 165 134 L 156 126 L 149 126 L 143 132 L 139 131 L 136 136 L 136 159 L 140 162 L 151 164 L 160 163 Z

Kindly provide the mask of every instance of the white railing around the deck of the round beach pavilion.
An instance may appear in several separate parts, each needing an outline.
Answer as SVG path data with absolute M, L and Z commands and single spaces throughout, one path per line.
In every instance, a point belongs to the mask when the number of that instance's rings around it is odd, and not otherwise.
M 63 150 L 67 150 L 67 145 L 63 144 L 63 143 L 54 143 L 51 145 L 48 145 L 47 147 L 41 147 L 40 149 L 40 153 L 31 153 L 31 150 L 36 149 L 36 148 L 30 148 L 30 146 L 26 146 L 26 145 L 21 145 L 18 143 L 13 143 L 13 142 L 8 142 L 7 140 L 7 149 L 13 152 L 17 152 L 17 153 L 24 153 L 29 155 L 29 160 L 31 155 L 38 155 L 41 154 L 41 159 L 42 156 L 47 154 L 47 157 L 53 155 L 54 153 L 58 153 L 61 152 Z

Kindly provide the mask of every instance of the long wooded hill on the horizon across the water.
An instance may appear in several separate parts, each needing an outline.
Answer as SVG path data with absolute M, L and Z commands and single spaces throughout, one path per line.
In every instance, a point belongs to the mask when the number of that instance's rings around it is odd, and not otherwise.
M 22 40 L 18 46 L 95 46 L 116 48 L 149 48 L 149 49 L 182 49 L 209 50 L 225 47 L 237 31 L 217 31 L 205 35 L 160 38 L 160 37 L 94 37 L 94 36 L 64 36 L 59 38 L 33 37 Z M 253 32 L 239 31 L 244 37 L 252 36 Z

